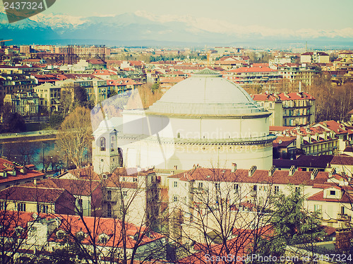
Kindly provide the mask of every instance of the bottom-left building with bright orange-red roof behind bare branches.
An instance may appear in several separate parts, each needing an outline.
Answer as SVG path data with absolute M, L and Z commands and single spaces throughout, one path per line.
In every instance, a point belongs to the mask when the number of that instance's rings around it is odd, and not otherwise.
M 83 237 L 80 244 L 76 241 L 76 246 L 82 247 L 85 252 L 91 253 L 95 248 L 96 255 L 88 258 L 99 258 L 104 263 L 119 263 L 125 256 L 128 261 L 133 256 L 133 263 L 149 258 L 165 258 L 166 237 L 148 227 L 112 218 L 54 213 L 7 212 L 7 215 L 14 215 L 11 219 L 18 221 L 10 220 L 0 239 L 8 239 L 11 244 L 11 234 L 23 234 L 22 243 L 16 244 L 15 241 L 18 258 L 35 254 L 37 260 L 52 260 L 53 251 L 64 248 L 63 239 L 71 241 L 72 236 Z

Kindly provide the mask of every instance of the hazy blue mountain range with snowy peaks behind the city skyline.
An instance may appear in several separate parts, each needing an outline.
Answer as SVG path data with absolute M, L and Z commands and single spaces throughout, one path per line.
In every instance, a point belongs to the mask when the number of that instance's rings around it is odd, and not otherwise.
M 1 39 L 11 44 L 107 44 L 109 46 L 203 46 L 242 47 L 352 47 L 353 29 L 271 30 L 240 26 L 208 18 L 169 18 L 162 20 L 145 13 L 85 18 L 61 14 L 38 14 L 8 23 L 0 13 Z M 9 43 L 9 42 L 8 42 Z

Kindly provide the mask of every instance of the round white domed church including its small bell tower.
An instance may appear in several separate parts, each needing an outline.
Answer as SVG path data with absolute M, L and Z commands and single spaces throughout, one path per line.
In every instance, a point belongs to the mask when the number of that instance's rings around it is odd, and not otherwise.
M 269 116 L 239 85 L 205 68 L 148 109 L 124 110 L 121 126 L 104 119 L 93 133 L 95 172 L 119 164 L 190 169 L 230 168 L 233 162 L 270 169 L 275 136 L 269 134 Z

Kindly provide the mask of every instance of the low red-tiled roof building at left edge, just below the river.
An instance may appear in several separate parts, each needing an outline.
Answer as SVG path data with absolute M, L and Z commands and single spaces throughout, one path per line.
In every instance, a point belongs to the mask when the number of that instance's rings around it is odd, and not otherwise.
M 34 165 L 20 165 L 0 158 L 0 190 L 13 185 L 20 185 L 44 179 L 46 175 L 37 172 Z

